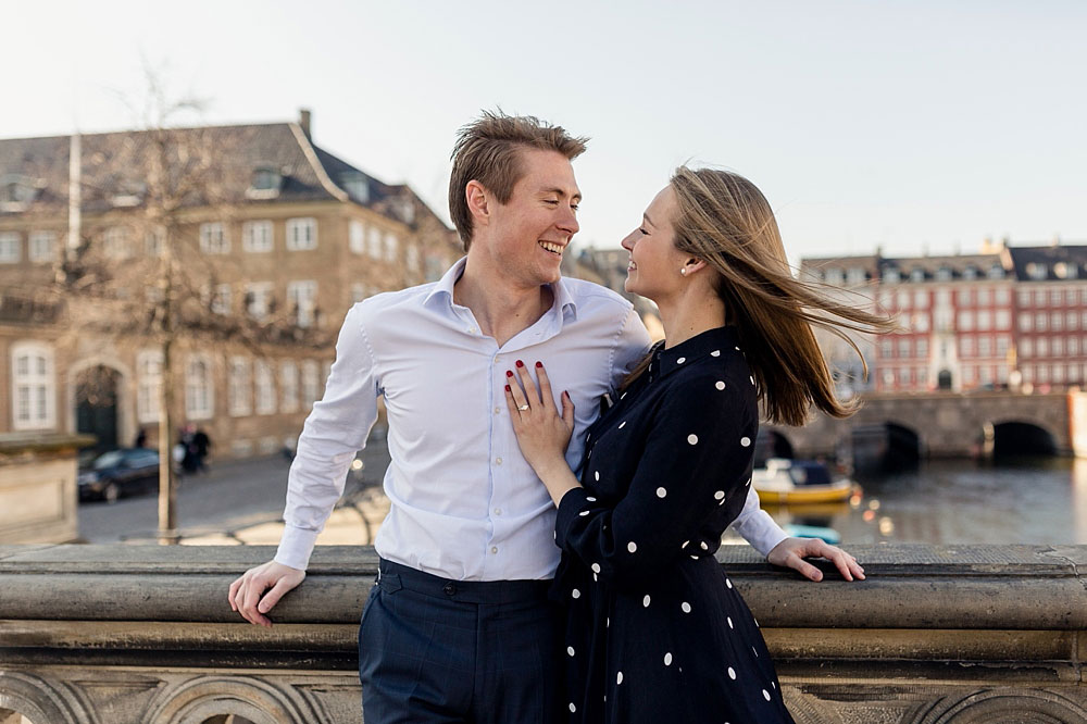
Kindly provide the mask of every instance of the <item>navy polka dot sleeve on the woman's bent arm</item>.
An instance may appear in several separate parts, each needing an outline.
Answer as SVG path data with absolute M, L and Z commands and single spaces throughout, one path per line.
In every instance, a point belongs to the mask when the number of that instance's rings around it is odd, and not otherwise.
M 585 488 L 563 496 L 555 521 L 563 550 L 626 588 L 691 554 L 686 545 L 720 505 L 738 512 L 758 424 L 740 385 L 697 374 L 669 390 L 627 495 L 614 507 Z M 607 462 L 596 462 L 591 474 L 608 475 Z

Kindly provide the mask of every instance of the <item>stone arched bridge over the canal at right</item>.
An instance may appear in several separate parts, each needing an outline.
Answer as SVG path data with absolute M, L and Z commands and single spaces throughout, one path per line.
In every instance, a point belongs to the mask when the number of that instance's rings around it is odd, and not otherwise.
M 913 445 L 921 458 L 991 455 L 1012 448 L 1087 455 L 1087 392 L 867 394 L 852 417 L 820 413 L 803 427 L 764 429 L 785 457 L 834 455 L 858 435 L 880 429 L 891 444 Z

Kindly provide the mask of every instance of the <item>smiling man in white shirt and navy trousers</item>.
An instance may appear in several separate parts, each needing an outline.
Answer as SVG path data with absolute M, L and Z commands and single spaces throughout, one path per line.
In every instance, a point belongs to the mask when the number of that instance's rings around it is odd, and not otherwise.
M 582 198 L 571 162 L 584 150 L 585 139 L 534 117 L 485 113 L 461 130 L 449 200 L 466 257 L 437 283 L 348 312 L 298 441 L 275 560 L 230 586 L 230 606 L 270 626 L 268 611 L 305 575 L 384 396 L 391 505 L 359 636 L 367 724 L 558 720 L 554 507 L 520 453 L 505 371 L 542 361 L 554 390 L 569 392 L 576 464 L 598 400 L 650 341 L 629 302 L 560 276 Z M 757 500 L 741 519 L 774 562 L 819 575 L 800 556 L 821 549 L 783 541 Z

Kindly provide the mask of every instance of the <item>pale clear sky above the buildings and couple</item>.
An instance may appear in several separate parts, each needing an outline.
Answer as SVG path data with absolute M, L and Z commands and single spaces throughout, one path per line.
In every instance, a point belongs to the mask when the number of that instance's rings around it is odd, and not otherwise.
M 1087 244 L 1087 2 L 0 0 L 0 138 L 292 121 L 448 219 L 480 109 L 592 138 L 575 241 L 611 247 L 685 161 L 751 178 L 801 257 Z

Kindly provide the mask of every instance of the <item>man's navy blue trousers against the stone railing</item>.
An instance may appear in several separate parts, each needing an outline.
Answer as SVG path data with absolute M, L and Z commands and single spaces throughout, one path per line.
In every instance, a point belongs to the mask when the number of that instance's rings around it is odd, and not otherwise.
M 550 581 L 448 581 L 382 560 L 362 612 L 366 724 L 554 724 Z

